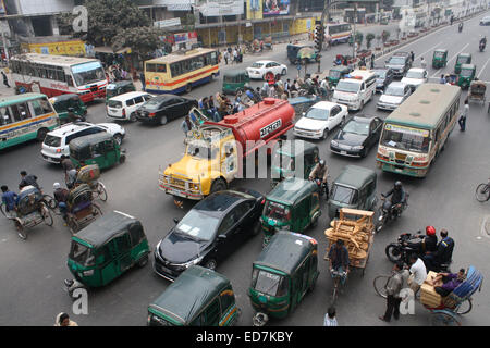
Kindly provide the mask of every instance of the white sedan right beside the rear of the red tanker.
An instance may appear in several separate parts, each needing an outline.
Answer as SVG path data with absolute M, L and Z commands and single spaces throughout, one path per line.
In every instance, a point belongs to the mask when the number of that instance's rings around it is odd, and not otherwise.
M 294 125 L 294 135 L 303 138 L 327 139 L 329 132 L 344 124 L 347 107 L 330 101 L 320 101 L 303 114 Z

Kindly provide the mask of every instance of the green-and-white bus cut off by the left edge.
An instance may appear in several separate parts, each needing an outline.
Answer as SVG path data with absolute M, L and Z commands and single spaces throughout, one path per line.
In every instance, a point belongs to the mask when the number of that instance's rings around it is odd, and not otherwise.
M 42 141 L 59 124 L 58 114 L 45 95 L 0 97 L 0 150 L 32 139 Z

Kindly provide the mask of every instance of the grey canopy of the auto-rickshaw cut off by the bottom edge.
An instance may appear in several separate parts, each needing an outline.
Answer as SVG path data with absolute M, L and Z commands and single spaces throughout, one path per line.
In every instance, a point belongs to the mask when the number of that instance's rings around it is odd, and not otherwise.
M 185 325 L 226 287 L 231 287 L 231 284 L 223 275 L 192 265 L 149 304 L 148 309 Z

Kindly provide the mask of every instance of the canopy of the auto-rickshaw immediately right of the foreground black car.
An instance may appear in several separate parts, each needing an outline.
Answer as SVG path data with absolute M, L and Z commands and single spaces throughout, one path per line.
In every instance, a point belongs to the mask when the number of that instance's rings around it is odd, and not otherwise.
M 317 190 L 317 184 L 298 177 L 289 177 L 279 183 L 267 195 L 267 200 L 278 203 L 294 206 L 297 201 Z

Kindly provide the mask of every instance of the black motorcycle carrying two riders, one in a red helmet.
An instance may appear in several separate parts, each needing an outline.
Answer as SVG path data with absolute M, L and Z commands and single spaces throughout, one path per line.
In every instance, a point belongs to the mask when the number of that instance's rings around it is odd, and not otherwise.
M 417 232 L 417 235 L 420 235 L 421 231 Z M 402 261 L 405 264 L 409 264 L 411 257 L 413 254 L 417 256 L 418 258 L 424 257 L 424 252 L 421 250 L 421 240 L 420 244 L 415 244 L 416 239 L 420 239 L 417 235 L 412 235 L 409 233 L 403 233 L 399 236 L 396 243 L 390 243 L 387 248 L 384 249 L 384 253 L 387 254 L 388 259 L 391 262 L 399 262 Z M 412 245 L 409 244 L 412 243 Z M 415 244 L 415 245 L 414 245 Z M 444 272 L 450 273 L 450 265 L 452 261 L 448 263 L 441 263 L 437 268 L 432 269 L 431 271 L 434 272 Z

